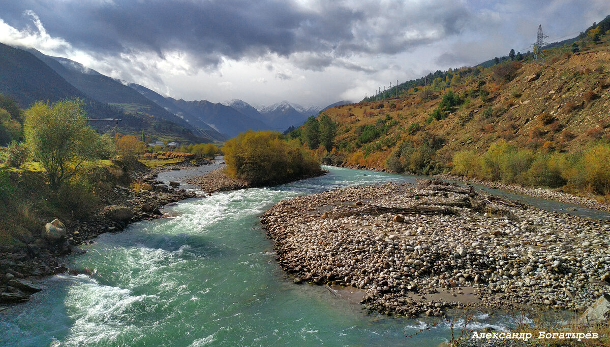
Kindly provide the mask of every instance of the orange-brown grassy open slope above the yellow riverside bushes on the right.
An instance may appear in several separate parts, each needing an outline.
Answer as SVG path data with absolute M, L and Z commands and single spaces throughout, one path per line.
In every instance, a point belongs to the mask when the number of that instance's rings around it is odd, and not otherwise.
M 353 151 L 362 152 L 365 156 L 364 159 L 357 154 L 348 156 L 348 164 L 384 168 L 387 157 L 401 141 L 415 140 L 418 136 L 423 138 L 429 134 L 445 139 L 445 145 L 437 155 L 447 161 L 458 150 L 473 149 L 484 152 L 490 144 L 501 138 L 517 147 L 527 146 L 532 149 L 538 149 L 546 141 L 550 141 L 547 146 L 550 145 L 551 149 L 572 152 L 583 149 L 592 139 L 607 137 L 610 134 L 610 129 L 607 127 L 610 96 L 600 87 L 600 80 L 610 79 L 609 46 L 608 38 L 605 38 L 605 41 L 592 49 L 574 55 L 565 54 L 567 48 L 547 51 L 547 61 L 552 63 L 548 65 L 524 63 L 517 77 L 509 83 L 496 82 L 493 78 L 493 68 L 486 69 L 468 83 L 452 86 L 451 90 L 462 94 L 470 89 L 486 89 L 490 92 L 487 99 L 483 101 L 481 97 L 468 98 L 467 102 L 450 113 L 447 119 L 433 121 L 431 124 L 426 124 L 426 119 L 439 104 L 442 94 L 447 93 L 447 89 L 437 92 L 437 95 L 440 94 L 439 97 L 428 102 L 420 98 L 421 93 L 412 93 L 379 102 L 335 107 L 326 110 L 325 113 L 339 123 L 335 143 L 351 144 Z M 592 71 L 598 66 L 604 68 L 601 74 Z M 539 74 L 539 78 L 534 82 L 527 82 L 526 77 L 534 74 Z M 599 96 L 598 99 L 584 101 L 583 94 L 589 90 L 595 91 Z M 567 110 L 565 104 L 568 102 L 572 102 L 576 108 L 572 111 Z M 379 103 L 384 107 L 377 108 Z M 395 108 L 391 107 L 392 103 L 396 105 Z M 494 110 L 505 108 L 506 112 L 499 117 L 485 118 L 481 114 L 488 107 Z M 369 115 L 365 116 L 365 112 Z M 370 113 L 374 115 L 371 116 Z M 558 123 L 541 124 L 539 116 L 542 113 L 551 114 Z M 384 138 L 392 138 L 396 141 L 386 139 L 386 145 L 379 145 L 381 149 L 372 150 L 368 154 L 365 153 L 366 145 L 360 149 L 354 148 L 357 138 L 356 128 L 359 125 L 376 124 L 378 119 L 386 118 L 387 114 L 397 120 L 398 124 L 371 144 L 375 145 L 375 142 L 382 144 Z M 470 121 L 464 124 L 468 115 Z M 415 122 L 422 125 L 422 128 L 410 135 L 409 125 Z M 602 127 L 597 133 L 591 130 L 600 124 Z M 531 135 L 534 127 L 539 127 L 539 131 L 534 131 L 539 135 Z M 565 133 L 562 136 L 562 129 L 571 131 L 575 138 L 569 139 L 569 136 L 566 138 Z M 390 144 L 387 145 L 387 142 Z

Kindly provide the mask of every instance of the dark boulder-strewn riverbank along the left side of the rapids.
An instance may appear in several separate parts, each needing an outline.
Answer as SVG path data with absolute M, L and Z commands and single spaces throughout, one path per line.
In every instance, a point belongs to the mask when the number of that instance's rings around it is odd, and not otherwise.
M 166 185 L 157 180 L 160 172 L 180 170 L 194 165 L 210 164 L 199 161 L 158 169 L 140 167 L 131 174 L 148 189 L 138 192 L 117 185 L 106 191 L 96 212 L 87 220 L 41 222 L 41 233 L 24 235 L 18 242 L 0 245 L 0 304 L 27 301 L 30 294 L 41 287 L 35 284 L 41 276 L 68 270 L 63 258 L 70 253 L 84 253 L 79 245 L 93 242 L 99 234 L 123 230 L 127 224 L 163 217 L 159 211 L 165 205 L 195 197 L 193 192 L 179 189 L 178 182 Z

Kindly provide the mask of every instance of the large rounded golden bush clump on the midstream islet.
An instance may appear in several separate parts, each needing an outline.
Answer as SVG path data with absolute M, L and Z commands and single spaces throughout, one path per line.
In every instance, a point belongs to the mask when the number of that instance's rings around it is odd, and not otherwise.
M 286 141 L 276 131 L 246 131 L 225 142 L 227 174 L 251 184 L 273 184 L 320 172 L 320 162 L 301 148 L 296 139 Z

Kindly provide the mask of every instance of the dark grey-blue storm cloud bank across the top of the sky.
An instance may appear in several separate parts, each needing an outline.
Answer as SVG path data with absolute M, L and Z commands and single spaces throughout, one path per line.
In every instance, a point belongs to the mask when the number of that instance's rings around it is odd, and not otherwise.
M 0 18 L 23 28 L 31 24 L 25 10 L 40 17 L 49 35 L 87 51 L 152 51 L 160 57 L 182 51 L 199 67 L 216 66 L 223 58 L 306 53 L 318 57 L 301 61 L 312 70 L 333 65 L 337 57 L 395 54 L 431 43 L 461 32 L 470 16 L 462 2 L 450 0 L 320 1 L 312 8 L 274 0 L 24 0 L 3 4 Z

